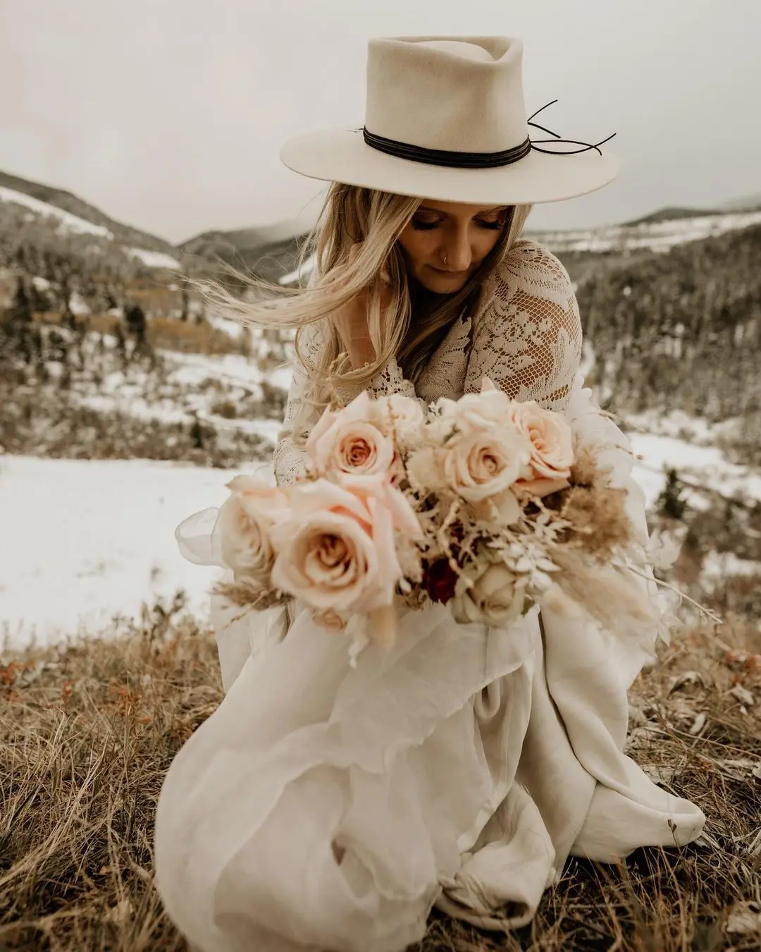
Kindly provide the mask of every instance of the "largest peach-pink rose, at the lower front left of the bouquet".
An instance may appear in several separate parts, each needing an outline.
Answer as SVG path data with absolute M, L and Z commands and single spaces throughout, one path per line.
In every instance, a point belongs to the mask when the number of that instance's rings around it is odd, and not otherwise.
M 369 612 L 391 605 L 401 577 L 394 545 L 400 514 L 382 501 L 380 488 L 372 499 L 370 505 L 325 479 L 292 487 L 292 517 L 273 530 L 273 584 L 318 609 Z

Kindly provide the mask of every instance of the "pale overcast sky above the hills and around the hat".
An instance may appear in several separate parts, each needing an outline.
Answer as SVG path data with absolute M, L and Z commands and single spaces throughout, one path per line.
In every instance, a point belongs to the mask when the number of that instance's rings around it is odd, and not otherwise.
M 0 169 L 172 242 L 308 214 L 283 141 L 361 126 L 368 37 L 420 34 L 521 37 L 528 112 L 617 133 L 532 228 L 761 192 L 761 0 L 0 0 Z

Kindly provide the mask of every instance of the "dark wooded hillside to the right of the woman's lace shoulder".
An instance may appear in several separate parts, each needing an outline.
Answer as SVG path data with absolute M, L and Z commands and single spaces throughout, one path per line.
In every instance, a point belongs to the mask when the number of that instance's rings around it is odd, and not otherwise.
M 561 257 L 602 395 L 733 420 L 727 440 L 761 462 L 761 224 L 661 253 Z

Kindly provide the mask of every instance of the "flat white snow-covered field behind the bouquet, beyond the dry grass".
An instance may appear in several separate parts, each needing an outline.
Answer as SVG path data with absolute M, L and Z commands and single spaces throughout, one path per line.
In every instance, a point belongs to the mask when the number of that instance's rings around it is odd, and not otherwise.
M 634 471 L 648 506 L 664 485 L 664 466 L 725 495 L 761 499 L 757 472 L 733 466 L 713 446 L 668 435 L 668 422 L 659 428 L 632 435 Z M 241 471 L 271 478 L 267 464 Z M 137 615 L 142 603 L 170 599 L 178 588 L 205 620 L 219 570 L 185 562 L 174 529 L 193 512 L 220 506 L 233 475 L 147 460 L 1 457 L 0 632 L 21 644 L 32 637 L 49 642 L 79 627 L 103 630 L 113 616 Z M 688 498 L 706 505 L 705 496 Z

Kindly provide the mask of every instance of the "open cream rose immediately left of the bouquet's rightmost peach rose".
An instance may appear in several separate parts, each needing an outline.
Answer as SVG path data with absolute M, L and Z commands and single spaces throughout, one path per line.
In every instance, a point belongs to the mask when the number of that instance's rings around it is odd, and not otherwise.
M 528 442 L 512 428 L 476 429 L 447 444 L 444 475 L 459 496 L 478 503 L 513 486 L 529 454 Z

